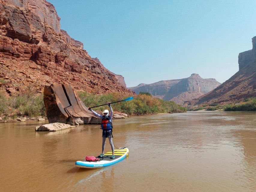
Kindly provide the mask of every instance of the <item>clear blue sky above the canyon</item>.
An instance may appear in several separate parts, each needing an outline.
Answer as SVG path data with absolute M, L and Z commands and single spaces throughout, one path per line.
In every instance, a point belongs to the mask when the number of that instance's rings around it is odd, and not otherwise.
M 128 87 L 191 73 L 222 83 L 256 36 L 255 0 L 49 2 L 61 29 Z

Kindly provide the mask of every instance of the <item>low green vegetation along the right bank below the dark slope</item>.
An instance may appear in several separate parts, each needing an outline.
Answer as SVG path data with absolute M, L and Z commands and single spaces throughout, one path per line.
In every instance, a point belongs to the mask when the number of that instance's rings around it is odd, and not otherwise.
M 197 107 L 188 108 L 188 111 L 198 111 L 198 110 L 206 110 L 206 111 L 216 111 L 216 110 L 223 110 L 223 111 L 256 111 L 256 97 L 254 98 L 247 98 L 243 102 L 236 102 L 236 104 L 209 104 L 209 105 L 202 105 Z

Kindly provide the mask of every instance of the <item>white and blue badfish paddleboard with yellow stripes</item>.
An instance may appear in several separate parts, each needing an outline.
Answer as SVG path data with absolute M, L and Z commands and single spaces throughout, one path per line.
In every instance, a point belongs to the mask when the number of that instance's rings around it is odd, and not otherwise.
M 129 154 L 129 149 L 128 148 L 119 148 L 115 149 L 115 158 L 110 159 L 112 156 L 112 151 L 107 152 L 104 154 L 103 157 L 96 157 L 99 158 L 100 161 L 77 161 L 76 166 L 77 167 L 83 167 L 83 168 L 101 168 L 101 167 L 107 167 L 109 165 L 113 165 L 119 161 L 122 161 L 124 158 L 126 158 Z

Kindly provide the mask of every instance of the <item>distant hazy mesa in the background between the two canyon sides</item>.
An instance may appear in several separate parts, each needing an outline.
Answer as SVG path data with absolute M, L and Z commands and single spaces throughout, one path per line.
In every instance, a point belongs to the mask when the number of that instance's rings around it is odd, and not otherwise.
M 162 98 L 165 101 L 175 101 L 177 104 L 183 104 L 194 98 L 218 87 L 220 83 L 215 79 L 203 79 L 198 74 L 193 73 L 190 77 L 184 79 L 164 80 L 151 84 L 141 83 L 136 87 L 130 87 L 136 94 L 139 92 L 149 92 L 153 96 Z

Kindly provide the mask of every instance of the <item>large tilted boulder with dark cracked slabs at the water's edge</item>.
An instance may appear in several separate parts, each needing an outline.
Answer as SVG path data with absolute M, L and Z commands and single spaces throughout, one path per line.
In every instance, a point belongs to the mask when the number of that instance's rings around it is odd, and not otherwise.
M 44 105 L 49 123 L 70 125 L 101 123 L 101 119 L 88 110 L 69 84 L 46 85 Z

